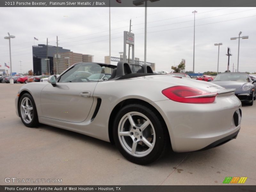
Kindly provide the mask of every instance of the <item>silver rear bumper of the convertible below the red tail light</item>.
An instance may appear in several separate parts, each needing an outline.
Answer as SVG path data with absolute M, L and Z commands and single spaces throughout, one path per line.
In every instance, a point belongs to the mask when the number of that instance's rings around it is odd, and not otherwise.
M 227 93 L 228 94 L 228 93 Z M 172 100 L 151 103 L 167 125 L 175 152 L 197 151 L 234 138 L 240 130 L 234 114 L 241 107 L 234 95 L 218 95 L 213 103 L 188 104 Z

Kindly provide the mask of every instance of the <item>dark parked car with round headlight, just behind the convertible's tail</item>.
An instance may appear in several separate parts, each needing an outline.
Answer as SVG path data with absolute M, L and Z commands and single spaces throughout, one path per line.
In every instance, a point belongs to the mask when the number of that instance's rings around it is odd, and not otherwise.
M 236 89 L 235 95 L 242 103 L 253 105 L 256 100 L 256 79 L 251 80 L 246 73 L 219 73 L 212 83 L 225 87 L 226 89 Z

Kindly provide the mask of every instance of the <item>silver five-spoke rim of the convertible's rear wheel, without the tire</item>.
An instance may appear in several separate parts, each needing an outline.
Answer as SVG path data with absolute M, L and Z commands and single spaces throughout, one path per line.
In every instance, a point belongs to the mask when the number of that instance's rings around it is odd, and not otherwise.
M 153 150 L 156 133 L 148 117 L 134 111 L 121 118 L 118 124 L 118 138 L 127 153 L 143 157 Z

